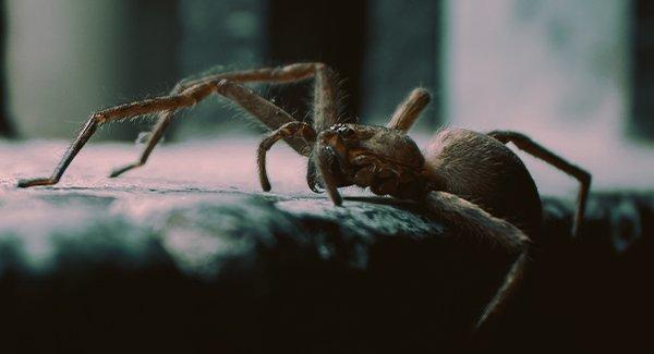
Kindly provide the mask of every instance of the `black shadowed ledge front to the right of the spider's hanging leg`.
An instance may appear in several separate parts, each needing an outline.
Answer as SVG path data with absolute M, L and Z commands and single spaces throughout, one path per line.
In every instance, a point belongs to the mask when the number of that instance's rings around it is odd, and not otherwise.
M 521 293 L 484 345 L 511 353 L 651 352 L 654 195 L 591 196 L 577 239 L 567 236 L 569 209 L 559 200 L 544 200 L 544 219 Z

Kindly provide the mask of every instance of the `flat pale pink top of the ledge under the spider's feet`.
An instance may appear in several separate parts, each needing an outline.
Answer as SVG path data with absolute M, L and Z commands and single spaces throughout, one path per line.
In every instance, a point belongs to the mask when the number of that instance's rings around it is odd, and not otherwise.
M 596 132 L 597 134 L 591 134 Z M 415 135 L 415 134 L 413 134 Z M 593 190 L 651 190 L 654 186 L 654 149 L 622 142 L 590 127 L 584 134 L 541 131 L 535 138 L 593 174 Z M 429 136 L 419 134 L 419 145 Z M 258 193 L 255 151 L 258 137 L 229 137 L 158 146 L 148 163 L 109 179 L 112 168 L 134 161 L 142 146 L 121 143 L 89 143 L 75 158 L 57 188 L 186 191 L 197 188 Z M 0 193 L 29 193 L 17 190 L 22 178 L 47 176 L 58 163 L 68 143 L 37 141 L 0 142 Z M 511 148 L 513 148 L 511 146 Z M 513 148 L 514 149 L 514 148 Z M 516 150 L 516 149 L 514 149 Z M 518 151 L 543 195 L 572 198 L 578 184 L 552 167 Z M 272 192 L 280 195 L 315 196 L 305 183 L 306 158 L 286 144 L 268 155 Z M 367 193 L 350 187 L 346 195 Z

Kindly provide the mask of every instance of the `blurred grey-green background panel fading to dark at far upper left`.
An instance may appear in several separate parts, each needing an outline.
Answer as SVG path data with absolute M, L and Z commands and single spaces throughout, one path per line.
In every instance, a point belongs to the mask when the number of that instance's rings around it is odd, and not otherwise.
M 10 110 L 23 137 L 70 138 L 99 108 L 162 94 L 177 72 L 177 0 L 8 0 Z M 131 138 L 131 124 L 99 135 Z

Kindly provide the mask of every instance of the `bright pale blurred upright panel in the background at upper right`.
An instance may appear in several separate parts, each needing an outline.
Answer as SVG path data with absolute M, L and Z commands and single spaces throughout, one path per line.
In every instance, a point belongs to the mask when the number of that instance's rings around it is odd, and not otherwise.
M 450 1 L 451 120 L 533 131 L 619 121 L 628 14 L 621 0 Z

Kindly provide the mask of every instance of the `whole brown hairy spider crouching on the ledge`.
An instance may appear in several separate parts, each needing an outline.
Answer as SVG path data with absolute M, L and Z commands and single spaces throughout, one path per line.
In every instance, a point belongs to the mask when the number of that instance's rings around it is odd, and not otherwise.
M 290 83 L 314 80 L 313 125 L 293 118 L 249 88 L 246 83 Z M 335 205 L 342 199 L 338 187 L 359 185 L 378 195 L 415 199 L 462 234 L 494 241 L 514 253 L 517 259 L 504 284 L 482 313 L 484 324 L 516 288 L 526 263 L 530 236 L 541 230 L 542 209 L 536 186 L 526 168 L 505 144 L 555 166 L 581 182 L 573 233 L 583 218 L 591 175 L 548 151 L 529 137 L 497 131 L 488 134 L 461 129 L 439 131 L 424 152 L 407 131 L 429 101 L 425 89 L 416 88 L 398 106 L 386 126 L 350 123 L 337 114 L 332 71 L 320 63 L 298 63 L 207 75 L 178 84 L 168 96 L 117 106 L 93 113 L 52 175 L 22 180 L 19 186 L 51 185 L 71 163 L 96 129 L 107 122 L 158 113 L 158 122 L 141 159 L 116 169 L 111 176 L 143 166 L 170 124 L 173 114 L 211 94 L 223 96 L 261 120 L 270 133 L 259 144 L 257 162 L 264 191 L 270 190 L 266 175 L 266 151 L 284 139 L 310 160 L 306 180 L 314 192 L 325 188 Z M 348 123 L 346 123 L 348 122 Z M 530 235 L 530 236 L 528 236 Z

